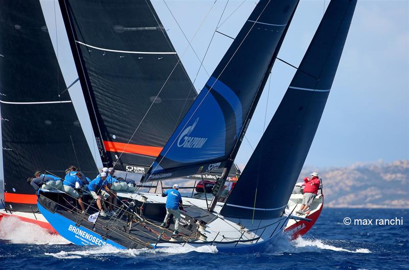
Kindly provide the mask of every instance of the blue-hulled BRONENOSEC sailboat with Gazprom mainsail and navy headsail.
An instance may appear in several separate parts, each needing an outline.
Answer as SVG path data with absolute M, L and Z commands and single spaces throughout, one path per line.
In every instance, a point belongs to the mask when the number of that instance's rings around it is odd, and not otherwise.
M 66 2 L 71 4 L 66 7 L 67 14 L 70 14 L 74 10 L 74 1 Z M 210 205 L 207 200 L 191 198 L 184 201 L 185 210 L 181 217 L 184 228 L 180 234 L 169 236 L 171 231 L 160 227 L 165 198 L 148 192 L 121 194 L 122 198 L 128 199 L 121 201 L 116 217 L 93 219 L 65 204 L 65 194 L 56 197 L 40 190 L 38 208 L 53 228 L 75 244 L 112 244 L 118 248 L 210 244 L 219 251 L 250 252 L 260 251 L 273 242 L 291 216 L 291 212 L 286 214 L 285 208 L 332 87 L 356 1 L 332 1 L 329 4 L 240 180 L 228 199 L 220 202 L 222 187 L 297 5 L 298 1 L 258 3 L 144 174 L 142 186 L 222 170 L 213 188 Z M 122 31 L 123 28 L 117 29 Z M 71 42 L 76 43 L 72 47 L 77 51 L 79 45 L 101 48 L 80 41 L 75 35 Z M 116 48 L 109 50 L 120 51 Z M 246 76 L 237 77 L 238 73 Z M 155 99 L 151 104 L 154 102 Z M 123 146 L 123 152 L 126 147 Z M 275 178 L 270 179 L 271 175 Z

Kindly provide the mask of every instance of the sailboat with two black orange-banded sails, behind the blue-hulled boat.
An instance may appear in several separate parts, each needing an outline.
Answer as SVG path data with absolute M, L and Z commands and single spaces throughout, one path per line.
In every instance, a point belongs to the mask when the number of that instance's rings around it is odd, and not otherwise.
M 5 186 L 5 200 L 2 201 L 4 209 L 0 209 L 0 219 L 3 216 L 14 216 L 56 233 L 38 212 L 35 190 L 26 183 L 26 179 L 36 170 L 63 178 L 64 170 L 69 165 L 76 165 L 92 178 L 97 175 L 97 166 L 69 94 L 69 88 L 79 79 L 71 83 L 70 75 L 61 71 L 43 16 L 44 7 L 39 1 L 5 1 L 0 4 L 2 7 L 0 103 Z M 66 13 L 69 4 L 60 2 L 61 15 L 65 20 L 69 16 Z M 91 25 L 87 22 L 86 26 L 93 27 L 94 30 L 96 28 L 113 30 L 114 34 L 105 33 L 109 35 L 107 40 L 117 45 L 122 44 L 123 49 L 110 52 L 101 47 L 87 46 L 84 42 L 88 42 L 89 39 L 88 43 L 94 45 L 98 45 L 101 40 L 95 40 L 97 38 L 93 36 L 95 32 L 86 32 L 86 28 L 79 29 L 82 38 L 86 39 L 81 39 L 79 41 L 81 43 L 74 43 L 78 44 L 78 50 L 82 49 L 83 52 L 79 54 L 74 51 L 76 47 L 73 46 L 73 55 L 81 78 L 79 81 L 83 86 L 87 109 L 91 114 L 90 120 L 96 134 L 99 153 L 105 166 L 112 166 L 111 161 L 118 160 L 120 156 L 121 163 L 116 164 L 116 169 L 122 169 L 130 174 L 143 174 L 148 168 L 146 166 L 152 163 L 165 145 L 197 93 L 150 2 L 129 2 L 120 8 L 117 3 L 106 3 L 100 10 L 96 10 L 94 4 L 87 5 L 88 9 L 97 12 L 101 17 L 98 23 Z M 77 10 L 78 8 L 75 9 Z M 129 14 L 123 16 L 124 12 Z M 119 13 L 122 15 L 118 15 Z M 141 16 L 136 18 L 134 14 Z M 88 14 L 85 17 L 89 18 Z M 155 27 L 123 28 L 115 19 L 118 17 L 124 25 L 140 24 L 143 21 Z M 76 19 L 80 20 L 80 17 Z M 109 23 L 113 21 L 117 21 L 117 24 L 112 27 Z M 65 22 L 71 37 L 71 34 L 74 34 L 71 23 L 67 20 Z M 109 26 L 101 28 L 101 23 L 108 23 Z M 82 21 L 77 27 L 81 24 Z M 143 36 L 136 39 L 133 35 L 135 32 Z M 88 37 L 86 33 L 91 36 Z M 106 35 L 102 40 L 105 40 Z M 140 39 L 144 42 L 140 42 Z M 36 43 L 33 45 L 34 41 Z M 129 51 L 135 43 L 144 46 L 140 47 L 141 50 L 156 46 L 157 50 L 163 51 L 160 55 L 166 57 L 151 54 L 136 56 Z M 105 65 L 96 65 L 96 61 Z M 179 63 L 172 76 L 167 78 L 177 62 Z M 42 65 L 39 66 L 38 63 Z M 117 73 L 111 72 L 112 70 Z M 149 76 L 150 74 L 154 76 Z M 161 91 L 161 95 L 156 97 L 152 113 L 145 119 L 149 125 L 143 122 L 140 128 L 144 135 L 136 134 L 132 137 L 129 129 L 125 127 L 132 126 L 135 119 L 141 121 L 150 102 L 155 98 L 157 87 L 165 81 L 166 87 Z M 71 85 L 67 87 L 65 82 Z M 130 137 L 131 140 L 128 141 Z M 126 148 L 123 145 L 126 145 Z M 239 175 L 236 167 L 232 168 L 232 174 L 234 177 Z M 126 178 L 126 174 L 124 176 Z M 214 175 L 189 178 L 202 180 L 208 177 L 214 179 Z

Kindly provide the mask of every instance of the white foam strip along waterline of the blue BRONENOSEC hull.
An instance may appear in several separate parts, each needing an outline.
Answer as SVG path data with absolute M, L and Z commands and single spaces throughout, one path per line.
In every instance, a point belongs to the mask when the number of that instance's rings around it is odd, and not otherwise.
M 189 252 L 199 253 L 217 253 L 215 246 L 202 246 L 198 248 L 193 247 L 172 247 L 172 248 L 158 248 L 158 249 L 129 249 L 121 250 L 110 246 L 109 244 L 102 247 L 86 247 L 84 250 L 78 251 L 60 251 L 58 253 L 44 253 L 44 255 L 53 256 L 58 259 L 80 259 L 88 256 L 103 256 L 106 254 L 124 256 L 124 257 L 136 257 L 141 254 L 155 254 L 155 253 L 167 253 L 167 254 L 183 254 Z

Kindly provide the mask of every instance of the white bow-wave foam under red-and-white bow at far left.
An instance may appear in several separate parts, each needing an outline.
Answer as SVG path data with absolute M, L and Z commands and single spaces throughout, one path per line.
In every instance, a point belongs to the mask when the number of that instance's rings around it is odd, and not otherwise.
M 0 220 L 0 239 L 15 244 L 69 244 L 60 235 L 53 235 L 38 225 L 22 222 L 14 216 L 4 216 Z

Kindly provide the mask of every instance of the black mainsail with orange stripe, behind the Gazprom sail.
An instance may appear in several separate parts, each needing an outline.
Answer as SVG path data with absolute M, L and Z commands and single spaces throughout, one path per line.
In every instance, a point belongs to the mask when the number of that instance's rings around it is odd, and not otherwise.
M 197 96 L 160 19 L 147 0 L 59 3 L 103 164 L 146 173 Z

